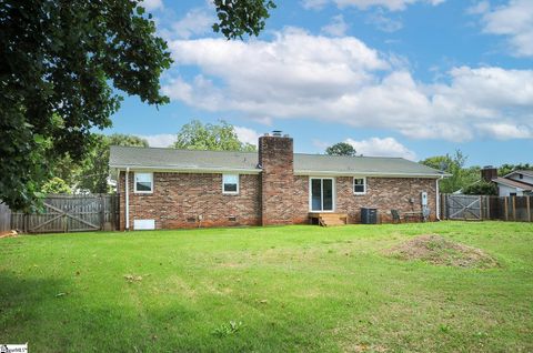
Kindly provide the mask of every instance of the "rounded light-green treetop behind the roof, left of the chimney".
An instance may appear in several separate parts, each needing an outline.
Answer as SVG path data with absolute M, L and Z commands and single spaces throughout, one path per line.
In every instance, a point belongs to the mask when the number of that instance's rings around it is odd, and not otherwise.
M 173 144 L 182 150 L 210 150 L 210 151 L 255 151 L 255 145 L 239 140 L 232 124 L 221 120 L 219 124 L 203 124 L 192 120 L 184 124 Z

